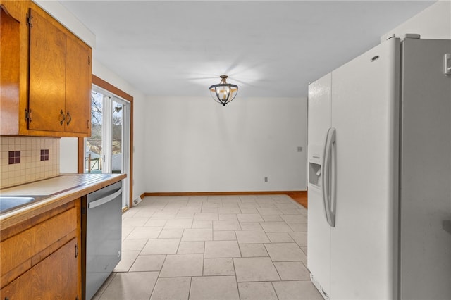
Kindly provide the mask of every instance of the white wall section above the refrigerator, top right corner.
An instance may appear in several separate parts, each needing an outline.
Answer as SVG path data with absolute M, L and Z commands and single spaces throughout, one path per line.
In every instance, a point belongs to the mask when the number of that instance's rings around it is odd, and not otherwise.
M 401 37 L 406 33 L 418 33 L 424 39 L 451 39 L 451 1 L 438 1 L 419 14 L 387 32 L 381 37 L 385 41 L 390 34 Z

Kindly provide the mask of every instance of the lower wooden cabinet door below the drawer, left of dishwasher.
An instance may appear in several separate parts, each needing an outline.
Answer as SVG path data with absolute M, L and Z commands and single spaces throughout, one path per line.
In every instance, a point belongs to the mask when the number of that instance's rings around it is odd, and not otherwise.
M 78 296 L 77 238 L 1 289 L 1 299 L 73 299 Z

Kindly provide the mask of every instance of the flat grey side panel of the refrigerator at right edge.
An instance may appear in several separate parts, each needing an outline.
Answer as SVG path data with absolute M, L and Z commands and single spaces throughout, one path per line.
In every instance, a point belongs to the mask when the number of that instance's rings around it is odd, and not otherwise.
M 402 43 L 400 299 L 451 299 L 450 40 Z M 444 226 L 445 225 L 445 226 Z

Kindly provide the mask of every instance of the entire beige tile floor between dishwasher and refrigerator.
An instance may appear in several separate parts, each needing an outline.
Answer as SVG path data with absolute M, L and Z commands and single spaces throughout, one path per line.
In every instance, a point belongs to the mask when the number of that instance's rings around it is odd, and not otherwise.
M 322 299 L 306 265 L 307 209 L 287 195 L 146 197 L 94 299 Z

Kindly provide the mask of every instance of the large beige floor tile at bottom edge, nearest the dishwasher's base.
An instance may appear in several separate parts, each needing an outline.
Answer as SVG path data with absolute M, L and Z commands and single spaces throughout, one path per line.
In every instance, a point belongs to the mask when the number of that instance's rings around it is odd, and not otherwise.
M 149 299 L 158 272 L 117 273 L 100 299 Z

